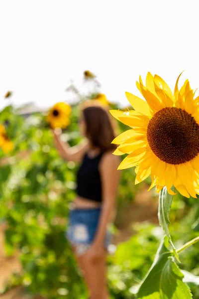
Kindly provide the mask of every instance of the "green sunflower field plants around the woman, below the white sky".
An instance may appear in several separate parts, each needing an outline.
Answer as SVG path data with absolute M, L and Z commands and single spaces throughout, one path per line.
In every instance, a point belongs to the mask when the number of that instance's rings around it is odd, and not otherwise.
M 88 298 L 65 237 L 78 165 L 58 155 L 51 128 L 63 128 L 63 141 L 74 146 L 82 139 L 78 130 L 82 102 L 98 101 L 116 111 L 119 106 L 101 93 L 92 72 L 85 71 L 84 80 L 89 86 L 87 94 L 74 85 L 68 89 L 77 99 L 70 106 L 57 101 L 48 112 L 28 117 L 11 104 L 0 111 L 0 222 L 5 227 L 1 246 L 8 257 L 17 254 L 22 265 L 1 286 L 1 296 L 21 286 L 30 299 Z M 128 108 L 124 110 L 128 115 Z M 115 122 L 118 135 L 129 130 L 127 125 Z M 125 146 L 123 149 L 129 153 Z M 121 171 L 118 215 L 112 228 L 115 235 L 128 207 L 153 185 L 149 176 L 135 185 L 136 172 L 134 167 Z M 149 192 L 153 205 L 158 196 L 153 189 Z M 199 299 L 199 198 L 176 193 L 171 205 L 172 195 L 161 190 L 162 227 L 157 221 L 134 223 L 133 234 L 112 245 L 107 260 L 111 299 Z M 189 246 L 191 240 L 195 241 Z

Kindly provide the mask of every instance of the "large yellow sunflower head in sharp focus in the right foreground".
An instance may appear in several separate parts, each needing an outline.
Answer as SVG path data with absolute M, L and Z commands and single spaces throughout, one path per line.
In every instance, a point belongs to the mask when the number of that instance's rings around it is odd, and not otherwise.
M 118 169 L 136 166 L 139 183 L 152 177 L 149 190 L 166 186 L 170 194 L 175 188 L 186 197 L 199 194 L 199 97 L 188 80 L 174 94 L 158 75 L 147 74 L 146 86 L 140 77 L 137 88 L 146 101 L 126 92 L 135 109 L 110 113 L 132 129 L 113 140 L 120 145 L 114 154 L 128 153 Z

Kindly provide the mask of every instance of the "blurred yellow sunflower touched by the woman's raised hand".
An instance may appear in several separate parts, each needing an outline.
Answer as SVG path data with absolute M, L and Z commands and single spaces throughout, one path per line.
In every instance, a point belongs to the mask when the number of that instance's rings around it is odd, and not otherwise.
M 64 102 L 59 102 L 50 109 L 47 122 L 52 129 L 63 129 L 70 124 L 70 113 L 71 107 Z

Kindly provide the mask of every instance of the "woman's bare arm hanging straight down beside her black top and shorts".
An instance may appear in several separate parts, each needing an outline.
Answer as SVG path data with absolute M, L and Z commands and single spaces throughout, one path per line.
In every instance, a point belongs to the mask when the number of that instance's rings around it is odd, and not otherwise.
M 107 225 L 115 211 L 115 200 L 119 183 L 119 171 L 117 170 L 119 162 L 118 156 L 114 156 L 112 153 L 106 153 L 101 161 L 100 174 L 103 202 L 97 233 L 91 248 L 87 252 L 90 261 L 100 258 L 104 250 L 103 242 Z

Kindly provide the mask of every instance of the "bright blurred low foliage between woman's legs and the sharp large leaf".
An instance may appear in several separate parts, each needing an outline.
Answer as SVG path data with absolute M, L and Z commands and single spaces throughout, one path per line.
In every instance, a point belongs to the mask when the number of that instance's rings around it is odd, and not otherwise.
M 136 234 L 118 245 L 108 258 L 108 280 L 112 298 L 135 298 L 138 284 L 153 262 L 161 230 L 152 224 L 137 224 Z

